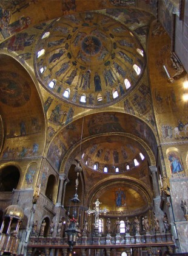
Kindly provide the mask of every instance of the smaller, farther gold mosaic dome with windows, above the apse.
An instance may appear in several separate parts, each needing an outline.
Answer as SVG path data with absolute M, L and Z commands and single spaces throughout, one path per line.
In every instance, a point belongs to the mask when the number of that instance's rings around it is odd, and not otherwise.
M 104 174 L 121 174 L 134 169 L 146 160 L 147 153 L 137 141 L 126 136 L 100 137 L 84 149 L 81 162 L 85 168 Z

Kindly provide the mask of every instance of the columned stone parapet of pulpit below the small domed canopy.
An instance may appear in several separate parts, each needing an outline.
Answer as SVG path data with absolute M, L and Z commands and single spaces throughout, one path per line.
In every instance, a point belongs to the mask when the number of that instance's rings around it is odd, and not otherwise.
M 12 235 L 0 234 L 0 255 L 10 253 L 16 255 L 18 250 L 19 238 Z

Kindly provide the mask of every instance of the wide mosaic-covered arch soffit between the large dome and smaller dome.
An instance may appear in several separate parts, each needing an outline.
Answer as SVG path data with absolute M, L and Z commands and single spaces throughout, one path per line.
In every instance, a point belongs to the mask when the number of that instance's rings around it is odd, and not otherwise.
M 113 132 L 113 129 L 110 128 L 110 130 L 107 130 L 106 127 L 103 127 L 103 124 L 100 123 L 98 119 L 102 118 L 102 122 L 106 124 L 108 121 L 104 121 L 103 117 L 105 118 L 113 118 L 115 117 L 115 122 L 112 122 L 116 126 L 116 133 Z M 84 121 L 83 121 L 84 118 Z M 94 124 L 92 123 L 94 120 Z M 92 125 L 90 125 L 92 123 Z M 109 123 L 109 124 L 112 124 Z M 137 127 L 132 126 L 131 124 L 138 123 L 138 125 L 141 125 L 141 130 L 138 130 Z M 84 127 L 83 133 L 82 133 L 82 125 Z M 69 126 L 75 127 L 73 132 L 72 129 L 69 129 Z M 96 128 L 99 130 L 96 132 Z M 81 133 L 82 133 L 82 141 L 81 141 Z M 137 133 L 137 134 L 136 134 Z M 146 134 L 145 134 L 146 133 Z M 150 165 L 155 165 L 155 149 L 157 148 L 157 141 L 158 138 L 156 137 L 155 133 L 153 132 L 152 128 L 142 119 L 139 119 L 137 116 L 129 115 L 127 113 L 123 112 L 99 112 L 95 114 L 90 114 L 87 116 L 82 116 L 79 119 L 76 119 L 72 121 L 71 123 L 67 124 L 67 126 L 61 127 L 61 130 L 59 130 L 53 139 L 49 143 L 49 147 L 47 148 L 47 154 L 50 151 L 50 146 L 53 144 L 59 144 L 59 141 L 63 143 L 66 147 L 65 149 L 65 155 L 62 159 L 61 164 L 59 165 L 59 172 L 64 173 L 64 166 L 65 161 L 67 160 L 74 160 L 76 157 L 76 153 L 73 154 L 72 157 L 70 157 L 71 153 L 75 151 L 75 148 L 79 150 L 80 143 L 83 143 L 87 140 L 90 140 L 91 138 L 97 138 L 99 135 L 127 135 L 127 138 L 138 141 L 139 144 L 143 146 L 143 148 L 146 150 L 147 154 L 150 158 Z M 150 135 L 150 136 L 149 136 Z M 76 137 L 77 141 L 73 141 L 72 146 L 72 140 L 69 140 L 69 137 Z M 64 137 L 64 138 L 63 138 Z M 150 140 L 149 140 L 150 137 Z M 143 138 L 143 139 L 141 139 Z M 67 141 L 66 141 L 67 140 Z M 69 169 L 69 165 L 65 166 L 66 169 Z

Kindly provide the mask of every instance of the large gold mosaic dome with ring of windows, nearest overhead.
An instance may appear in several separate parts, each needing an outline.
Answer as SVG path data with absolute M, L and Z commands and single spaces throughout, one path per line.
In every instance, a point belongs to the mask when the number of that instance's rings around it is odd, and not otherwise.
M 109 16 L 79 13 L 53 21 L 36 48 L 39 82 L 82 107 L 115 104 L 138 84 L 145 66 L 138 39 Z

